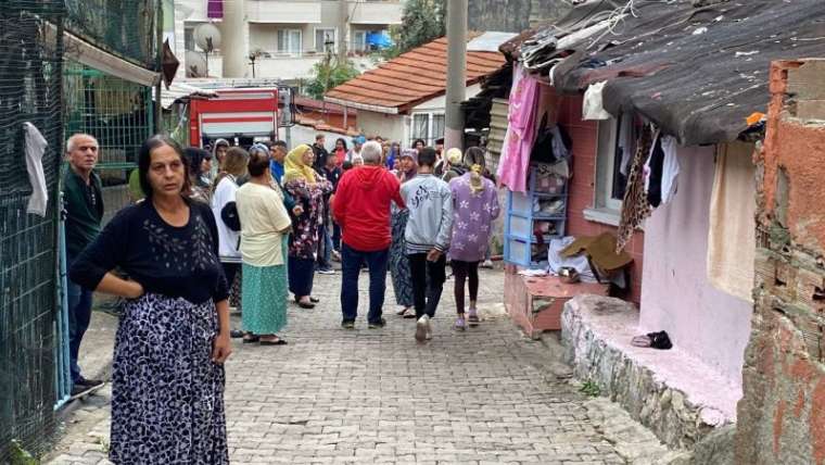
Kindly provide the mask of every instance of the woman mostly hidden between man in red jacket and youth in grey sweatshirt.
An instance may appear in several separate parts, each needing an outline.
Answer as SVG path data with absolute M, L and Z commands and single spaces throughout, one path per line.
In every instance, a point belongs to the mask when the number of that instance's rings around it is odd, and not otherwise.
M 399 167 L 395 173 L 401 184 L 404 184 L 418 174 L 418 150 L 404 149 L 398 155 Z M 392 243 L 390 244 L 390 274 L 395 291 L 395 303 L 401 306 L 398 315 L 405 318 L 415 318 L 412 310 L 412 277 L 409 272 L 409 259 L 407 259 L 407 244 L 404 240 L 404 231 L 407 228 L 409 210 L 399 209 L 395 202 L 391 209 Z

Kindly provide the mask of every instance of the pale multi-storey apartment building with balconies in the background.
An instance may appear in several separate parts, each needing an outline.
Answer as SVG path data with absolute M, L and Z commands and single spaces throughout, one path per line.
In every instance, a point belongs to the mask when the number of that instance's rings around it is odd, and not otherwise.
M 230 4 L 231 3 L 231 4 Z M 192 66 L 202 70 L 207 62 L 208 75 L 223 75 L 223 56 L 228 50 L 217 49 L 206 55 L 198 47 L 198 26 L 213 23 L 226 37 L 241 34 L 243 50 L 249 56 L 242 76 L 269 77 L 285 81 L 306 79 L 313 66 L 329 51 L 335 53 L 340 40 L 346 41 L 350 59 L 361 70 L 376 66 L 376 51 L 386 40 L 390 26 L 399 24 L 403 0 L 350 0 L 345 11 L 337 0 L 242 0 L 244 26 L 227 30 L 223 20 L 227 9 L 238 0 L 175 0 L 175 30 L 168 36 L 174 41 L 175 54 L 183 62 L 180 77 Z M 345 20 L 344 20 L 345 17 Z M 344 29 L 344 30 L 342 30 Z M 234 51 L 233 51 L 234 52 Z M 238 73 L 240 74 L 240 73 Z

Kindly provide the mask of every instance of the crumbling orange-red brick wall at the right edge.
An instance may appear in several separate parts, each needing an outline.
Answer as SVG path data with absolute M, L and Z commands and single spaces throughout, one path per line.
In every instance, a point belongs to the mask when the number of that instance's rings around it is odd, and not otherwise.
M 736 460 L 825 464 L 825 61 L 775 62 Z

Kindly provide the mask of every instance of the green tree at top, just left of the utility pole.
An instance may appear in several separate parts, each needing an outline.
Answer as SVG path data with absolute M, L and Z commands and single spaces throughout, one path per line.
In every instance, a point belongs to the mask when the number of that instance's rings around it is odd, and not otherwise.
M 393 29 L 398 54 L 446 34 L 446 0 L 407 0 L 401 26 Z

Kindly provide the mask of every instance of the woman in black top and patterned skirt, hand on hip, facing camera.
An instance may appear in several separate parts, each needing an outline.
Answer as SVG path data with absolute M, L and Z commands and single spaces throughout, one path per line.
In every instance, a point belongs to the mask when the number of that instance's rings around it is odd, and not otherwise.
M 138 165 L 145 200 L 118 212 L 69 272 L 80 286 L 128 299 L 115 340 L 110 460 L 225 464 L 231 344 L 215 218 L 188 199 L 177 142 L 150 138 Z

